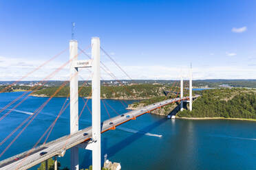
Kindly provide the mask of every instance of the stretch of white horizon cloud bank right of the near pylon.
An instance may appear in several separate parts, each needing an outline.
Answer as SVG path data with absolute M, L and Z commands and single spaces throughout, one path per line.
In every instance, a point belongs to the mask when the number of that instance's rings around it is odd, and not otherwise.
M 122 73 L 113 64 L 106 63 L 109 70 L 116 75 L 118 79 L 129 78 Z M 120 64 L 122 66 L 122 64 Z M 160 65 L 137 65 L 122 66 L 132 79 L 151 79 L 151 80 L 180 80 L 180 69 L 183 76 L 188 79 L 189 69 L 187 66 L 160 66 Z M 104 80 L 112 79 L 105 71 L 101 72 Z M 253 66 L 193 66 L 193 79 L 255 79 L 256 70 Z

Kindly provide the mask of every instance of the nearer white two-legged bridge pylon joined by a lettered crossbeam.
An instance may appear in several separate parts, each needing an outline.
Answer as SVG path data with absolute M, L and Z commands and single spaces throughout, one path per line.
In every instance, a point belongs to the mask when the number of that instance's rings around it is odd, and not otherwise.
M 78 60 L 78 42 L 70 40 L 70 134 L 78 132 L 78 68 L 92 67 L 92 168 L 101 169 L 100 149 L 100 38 L 91 40 L 92 60 Z M 70 149 L 70 169 L 79 170 L 78 147 Z

